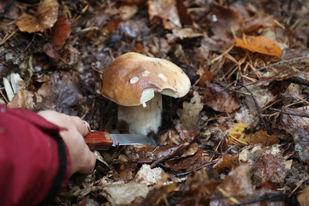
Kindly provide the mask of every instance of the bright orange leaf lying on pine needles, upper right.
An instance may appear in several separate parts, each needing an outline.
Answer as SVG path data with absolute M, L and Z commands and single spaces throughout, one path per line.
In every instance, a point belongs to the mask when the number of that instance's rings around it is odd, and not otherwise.
M 282 54 L 281 48 L 264 36 L 246 36 L 245 39 L 235 37 L 235 46 L 248 49 L 252 52 L 267 54 L 272 56 L 280 56 Z

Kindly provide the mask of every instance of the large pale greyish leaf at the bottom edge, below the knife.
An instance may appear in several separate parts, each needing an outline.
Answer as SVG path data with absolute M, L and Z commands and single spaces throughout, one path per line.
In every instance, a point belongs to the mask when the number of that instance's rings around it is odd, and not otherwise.
M 99 195 L 104 196 L 112 206 L 117 206 L 128 205 L 137 197 L 145 198 L 148 192 L 149 188 L 144 183 L 140 184 L 135 181 L 124 183 L 119 181 L 104 187 Z

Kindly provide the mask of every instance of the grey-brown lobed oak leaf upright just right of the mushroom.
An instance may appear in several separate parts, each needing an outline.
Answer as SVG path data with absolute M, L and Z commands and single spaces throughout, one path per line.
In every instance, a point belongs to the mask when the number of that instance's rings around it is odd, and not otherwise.
M 179 117 L 181 128 L 188 131 L 195 131 L 198 128 L 198 121 L 200 119 L 200 112 L 203 109 L 200 95 L 194 91 L 190 102 L 183 103 L 183 109 Z

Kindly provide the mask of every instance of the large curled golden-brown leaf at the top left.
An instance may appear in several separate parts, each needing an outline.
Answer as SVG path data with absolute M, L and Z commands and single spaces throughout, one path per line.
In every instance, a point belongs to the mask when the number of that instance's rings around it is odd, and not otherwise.
M 59 4 L 56 0 L 42 0 L 35 15 L 22 15 L 16 22 L 21 32 L 44 32 L 57 21 Z

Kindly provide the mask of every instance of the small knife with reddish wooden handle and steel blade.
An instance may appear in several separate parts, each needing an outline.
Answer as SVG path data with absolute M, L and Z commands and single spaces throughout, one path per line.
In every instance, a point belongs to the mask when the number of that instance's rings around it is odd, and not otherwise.
M 90 131 L 84 139 L 90 150 L 109 149 L 117 145 L 157 146 L 155 141 L 142 134 L 110 134 L 104 131 Z

